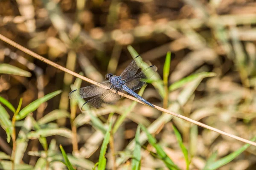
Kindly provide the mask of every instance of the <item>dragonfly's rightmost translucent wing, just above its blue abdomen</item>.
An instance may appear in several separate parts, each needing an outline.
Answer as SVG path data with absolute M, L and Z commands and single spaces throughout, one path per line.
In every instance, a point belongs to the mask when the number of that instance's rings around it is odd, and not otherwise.
M 151 65 L 140 73 L 136 74 L 133 77 L 130 77 L 125 80 L 125 85 L 130 88 L 132 91 L 135 91 L 141 88 L 147 80 L 154 75 L 157 71 L 157 67 L 155 65 Z

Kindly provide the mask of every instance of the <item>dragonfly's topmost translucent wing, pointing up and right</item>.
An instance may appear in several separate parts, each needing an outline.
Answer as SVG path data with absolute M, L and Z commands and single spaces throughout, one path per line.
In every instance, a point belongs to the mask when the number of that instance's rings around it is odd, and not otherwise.
M 135 57 L 134 60 L 132 60 L 131 64 L 128 65 L 128 67 L 125 68 L 125 70 L 120 75 L 120 77 L 122 77 L 122 80 L 134 76 L 139 70 L 141 62 L 142 58 L 140 56 Z

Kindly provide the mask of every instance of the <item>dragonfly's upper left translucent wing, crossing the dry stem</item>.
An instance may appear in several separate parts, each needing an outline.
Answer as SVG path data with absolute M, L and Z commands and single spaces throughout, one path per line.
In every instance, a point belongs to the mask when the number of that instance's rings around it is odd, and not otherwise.
M 101 83 L 98 83 L 95 85 L 90 85 L 87 87 L 73 90 L 70 92 L 68 97 L 70 99 L 84 99 L 87 97 L 96 96 L 96 95 L 102 94 L 108 90 L 108 89 L 102 88 L 102 86 L 107 86 L 108 88 L 111 88 L 111 82 L 105 81 L 105 82 L 101 82 Z

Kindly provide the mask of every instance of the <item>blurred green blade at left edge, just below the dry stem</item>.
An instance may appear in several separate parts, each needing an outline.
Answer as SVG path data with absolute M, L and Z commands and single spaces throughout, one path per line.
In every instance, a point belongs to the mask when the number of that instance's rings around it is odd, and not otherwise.
M 13 74 L 23 77 L 31 77 L 31 73 L 9 64 L 0 64 L 0 74 Z

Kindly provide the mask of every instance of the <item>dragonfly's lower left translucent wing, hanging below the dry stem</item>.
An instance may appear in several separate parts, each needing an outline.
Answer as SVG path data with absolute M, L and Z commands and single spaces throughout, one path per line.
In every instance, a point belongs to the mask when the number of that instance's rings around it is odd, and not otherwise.
M 122 91 L 121 89 L 118 91 Z M 88 100 L 82 106 L 82 111 L 88 111 L 93 108 L 100 108 L 105 105 L 114 104 L 117 100 L 119 100 L 121 96 L 119 94 L 113 93 L 112 91 L 108 90 L 105 91 L 103 94 L 99 94 L 92 99 Z

